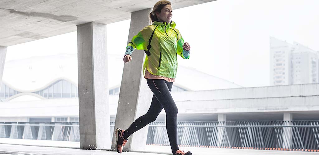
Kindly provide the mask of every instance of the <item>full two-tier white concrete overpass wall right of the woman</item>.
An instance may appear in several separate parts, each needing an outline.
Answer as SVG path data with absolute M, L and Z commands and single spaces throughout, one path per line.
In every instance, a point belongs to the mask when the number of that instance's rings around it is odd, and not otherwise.
M 173 97 L 179 113 L 319 111 L 318 90 L 319 84 L 301 84 L 182 92 Z

